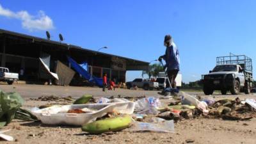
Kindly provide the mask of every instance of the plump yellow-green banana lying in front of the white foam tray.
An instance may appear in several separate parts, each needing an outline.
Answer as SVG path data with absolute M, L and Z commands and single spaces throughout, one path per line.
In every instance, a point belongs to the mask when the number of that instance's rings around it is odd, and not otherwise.
M 90 134 L 101 134 L 109 131 L 120 131 L 129 127 L 132 123 L 132 118 L 129 115 L 118 116 L 116 118 L 106 118 L 95 122 L 82 125 L 82 131 Z

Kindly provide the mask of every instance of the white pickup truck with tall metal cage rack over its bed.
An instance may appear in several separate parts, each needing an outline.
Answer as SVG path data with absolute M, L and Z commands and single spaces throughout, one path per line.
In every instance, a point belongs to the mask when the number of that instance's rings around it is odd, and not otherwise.
M 209 74 L 202 76 L 205 95 L 211 95 L 214 90 L 221 90 L 221 94 L 232 95 L 239 92 L 246 94 L 252 87 L 252 59 L 247 56 L 217 57 L 217 65 Z

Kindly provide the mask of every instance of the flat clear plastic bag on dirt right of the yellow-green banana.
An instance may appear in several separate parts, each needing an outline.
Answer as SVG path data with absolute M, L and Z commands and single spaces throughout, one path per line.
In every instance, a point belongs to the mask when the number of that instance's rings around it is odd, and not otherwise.
M 173 120 L 163 118 L 152 118 L 152 123 L 134 122 L 130 131 L 154 131 L 154 132 L 174 132 Z

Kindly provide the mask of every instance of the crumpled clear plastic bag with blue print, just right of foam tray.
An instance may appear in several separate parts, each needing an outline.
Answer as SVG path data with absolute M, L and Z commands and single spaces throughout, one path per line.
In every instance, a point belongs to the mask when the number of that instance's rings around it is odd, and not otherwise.
M 157 115 L 159 111 L 158 108 L 161 108 L 161 102 L 159 98 L 156 97 L 147 97 L 137 100 L 135 103 L 135 111 L 139 114 L 152 114 Z

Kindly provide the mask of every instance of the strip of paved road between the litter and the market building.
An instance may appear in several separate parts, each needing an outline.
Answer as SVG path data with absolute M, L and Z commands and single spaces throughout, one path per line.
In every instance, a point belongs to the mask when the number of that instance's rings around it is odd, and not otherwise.
M 102 92 L 101 88 L 92 88 L 92 87 L 83 87 L 83 86 L 47 86 L 47 85 L 36 85 L 36 84 L 0 84 L 0 90 L 4 92 L 18 92 L 24 98 L 36 98 L 41 96 L 49 96 L 49 95 L 57 95 L 60 97 L 72 96 L 72 97 L 81 97 L 84 94 L 90 94 L 94 97 L 118 97 L 121 95 L 122 97 L 141 97 L 141 96 L 157 96 L 157 92 L 159 91 L 145 91 L 145 90 L 126 90 L 117 88 L 115 91 L 107 90 L 106 92 Z M 190 95 L 202 95 L 205 97 L 202 92 L 187 92 Z M 256 95 L 219 95 L 215 93 L 212 97 L 216 98 L 245 98 L 245 97 L 253 97 Z

